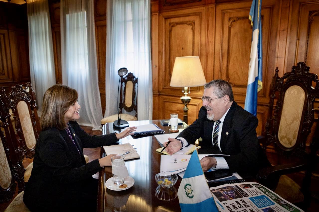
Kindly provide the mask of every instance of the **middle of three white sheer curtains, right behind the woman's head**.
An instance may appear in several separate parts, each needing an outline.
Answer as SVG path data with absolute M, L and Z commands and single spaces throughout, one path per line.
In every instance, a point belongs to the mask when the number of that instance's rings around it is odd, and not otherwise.
M 62 82 L 78 91 L 78 123 L 101 126 L 93 0 L 61 0 Z

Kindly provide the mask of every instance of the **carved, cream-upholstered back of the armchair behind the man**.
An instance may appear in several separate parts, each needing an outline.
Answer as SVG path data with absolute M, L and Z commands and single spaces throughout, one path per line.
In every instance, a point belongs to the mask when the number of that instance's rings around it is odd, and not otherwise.
M 303 155 L 314 122 L 314 101 L 319 95 L 317 75 L 299 62 L 283 77 L 275 71 L 263 147 L 272 144 L 284 154 Z M 313 84 L 315 87 L 313 87 Z M 277 102 L 275 101 L 277 100 Z

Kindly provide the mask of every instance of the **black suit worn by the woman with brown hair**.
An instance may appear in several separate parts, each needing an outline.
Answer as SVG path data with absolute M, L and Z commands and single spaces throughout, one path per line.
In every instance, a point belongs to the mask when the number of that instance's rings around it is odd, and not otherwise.
M 97 194 L 97 187 L 91 185 L 96 180 L 92 175 L 101 169 L 99 160 L 85 163 L 83 148 L 110 145 L 118 139 L 115 133 L 90 136 L 77 122 L 69 123 L 80 154 L 65 130 L 51 128 L 39 135 L 32 173 L 23 197 L 31 211 L 55 211 L 59 207 L 67 210 L 72 202 L 83 199 L 83 196 L 89 198 L 90 193 Z

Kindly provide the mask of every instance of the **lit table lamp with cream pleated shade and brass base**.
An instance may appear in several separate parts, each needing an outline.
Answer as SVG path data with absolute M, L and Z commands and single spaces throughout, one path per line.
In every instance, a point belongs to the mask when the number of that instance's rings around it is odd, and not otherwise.
M 188 107 L 187 104 L 192 99 L 187 94 L 190 94 L 190 87 L 203 86 L 206 84 L 202 64 L 198 56 L 176 57 L 173 67 L 173 73 L 170 86 L 182 87 L 181 97 L 182 103 L 185 105 L 184 122 L 188 122 Z

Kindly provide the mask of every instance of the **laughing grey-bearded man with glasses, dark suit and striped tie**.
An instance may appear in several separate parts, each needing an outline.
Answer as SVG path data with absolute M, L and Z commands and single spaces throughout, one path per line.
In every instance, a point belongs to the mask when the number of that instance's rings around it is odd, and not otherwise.
M 230 169 L 232 172 L 256 173 L 270 163 L 258 143 L 258 119 L 234 101 L 233 90 L 224 80 L 213 80 L 204 85 L 203 107 L 198 119 L 177 138 L 169 138 L 166 151 L 173 154 L 196 139 L 202 138 L 199 154 L 226 154 L 230 157 L 204 157 L 204 172 Z M 166 143 L 164 143 L 166 146 Z M 247 175 L 247 176 L 248 176 Z

